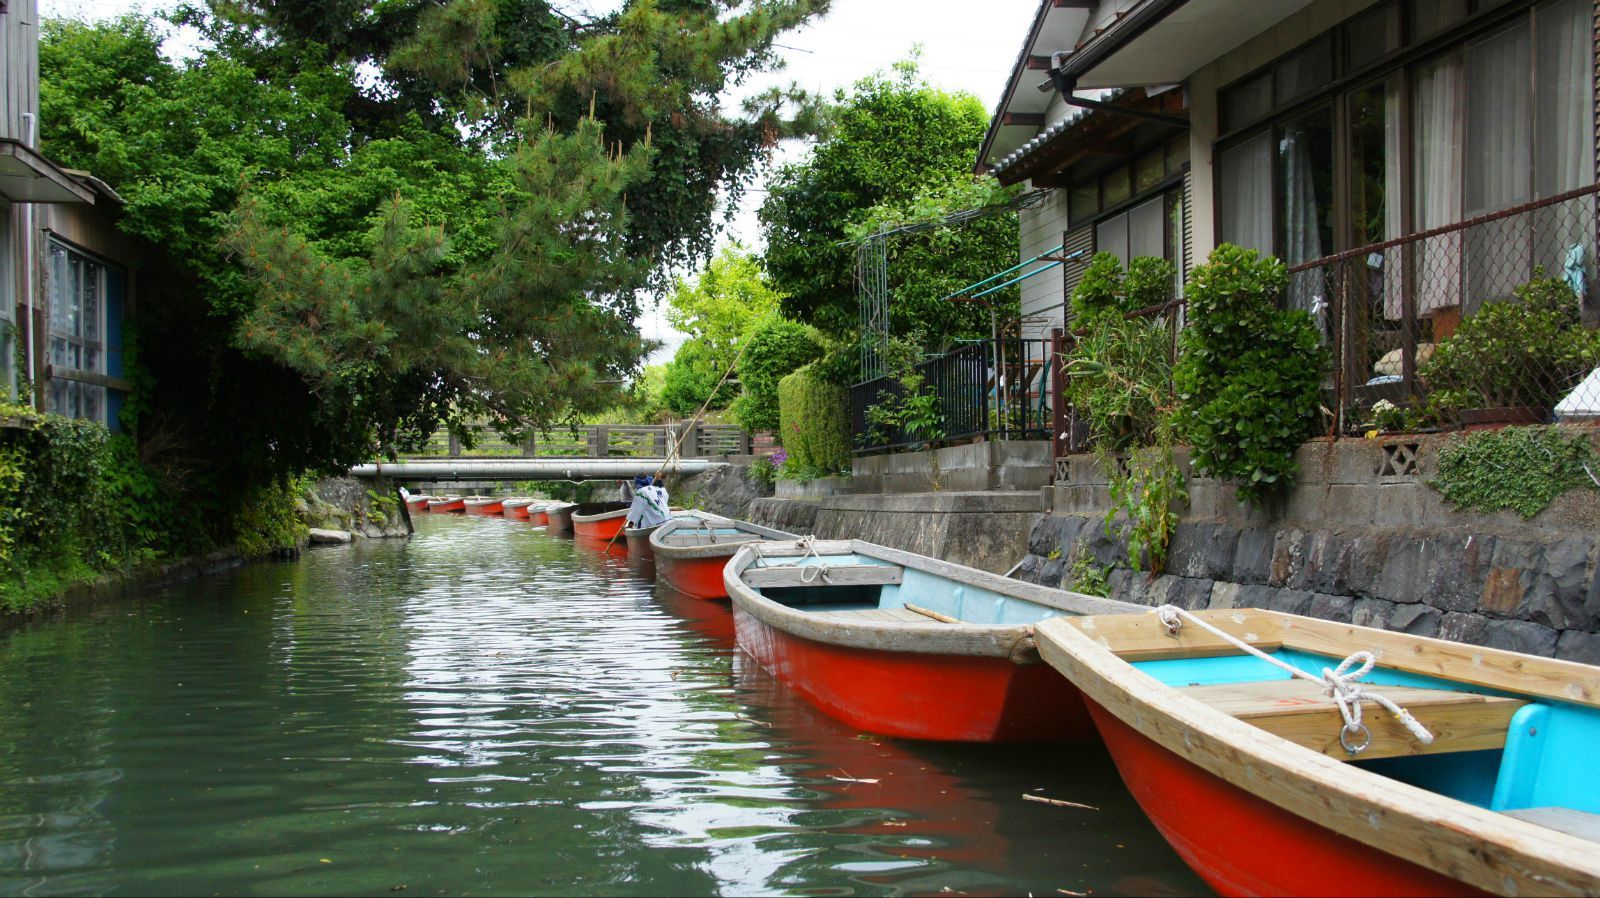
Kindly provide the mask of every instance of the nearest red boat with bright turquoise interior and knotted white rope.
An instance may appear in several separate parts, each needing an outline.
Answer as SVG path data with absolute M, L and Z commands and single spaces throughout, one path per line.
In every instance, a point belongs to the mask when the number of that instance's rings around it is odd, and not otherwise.
M 1274 611 L 1162 615 L 1178 627 L 1043 621 L 1038 647 L 1218 892 L 1600 893 L 1600 667 Z M 1323 685 L 1240 643 L 1317 676 L 1370 651 L 1365 693 L 1432 740 L 1371 698 L 1352 727 Z

